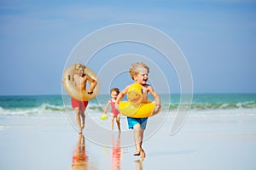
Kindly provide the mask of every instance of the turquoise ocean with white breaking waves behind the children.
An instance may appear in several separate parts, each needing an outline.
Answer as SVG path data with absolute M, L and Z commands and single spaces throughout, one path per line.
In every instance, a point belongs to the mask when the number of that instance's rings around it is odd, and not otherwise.
M 109 95 L 99 95 L 90 100 L 87 111 L 102 112 L 109 98 Z M 177 111 L 180 99 L 178 94 L 160 94 L 160 98 L 164 111 Z M 72 111 L 69 96 L 0 96 L 0 116 L 50 116 L 65 111 Z M 256 94 L 194 94 L 190 113 L 197 116 L 256 116 Z

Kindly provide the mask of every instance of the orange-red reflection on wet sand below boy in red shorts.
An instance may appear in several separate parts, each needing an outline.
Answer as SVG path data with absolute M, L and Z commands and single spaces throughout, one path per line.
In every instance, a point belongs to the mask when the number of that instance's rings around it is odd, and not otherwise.
M 84 135 L 79 134 L 79 141 L 76 150 L 73 150 L 72 167 L 73 170 L 89 169 L 88 156 L 85 152 Z

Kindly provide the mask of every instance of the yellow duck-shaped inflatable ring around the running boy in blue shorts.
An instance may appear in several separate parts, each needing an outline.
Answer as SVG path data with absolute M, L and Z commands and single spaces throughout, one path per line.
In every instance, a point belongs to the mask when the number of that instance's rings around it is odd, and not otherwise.
M 155 103 L 154 101 L 149 100 L 148 103 L 142 103 L 142 85 L 140 85 L 139 83 L 133 83 L 128 89 L 127 98 L 128 101 L 122 101 L 119 103 L 119 112 L 123 116 L 129 116 L 134 118 L 153 116 Z

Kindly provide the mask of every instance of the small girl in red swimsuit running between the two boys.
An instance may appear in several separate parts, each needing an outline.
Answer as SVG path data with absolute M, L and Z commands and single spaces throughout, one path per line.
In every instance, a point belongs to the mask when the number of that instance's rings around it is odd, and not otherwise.
M 111 130 L 113 130 L 113 120 L 115 118 L 117 127 L 120 131 L 121 130 L 120 129 L 120 114 L 119 114 L 119 111 L 115 108 L 115 105 L 114 105 L 118 94 L 119 94 L 119 88 L 112 88 L 110 90 L 111 99 L 108 100 L 108 104 L 106 105 L 106 107 L 103 111 L 103 114 L 107 114 L 108 107 L 109 107 L 109 105 L 111 105 Z

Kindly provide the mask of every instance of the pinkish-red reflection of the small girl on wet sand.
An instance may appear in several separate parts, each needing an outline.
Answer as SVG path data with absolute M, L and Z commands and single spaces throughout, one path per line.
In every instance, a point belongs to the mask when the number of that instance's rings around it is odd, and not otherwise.
M 117 139 L 114 139 L 112 134 L 112 169 L 120 169 L 120 159 L 121 159 L 121 147 L 120 147 L 120 135 L 118 134 Z

